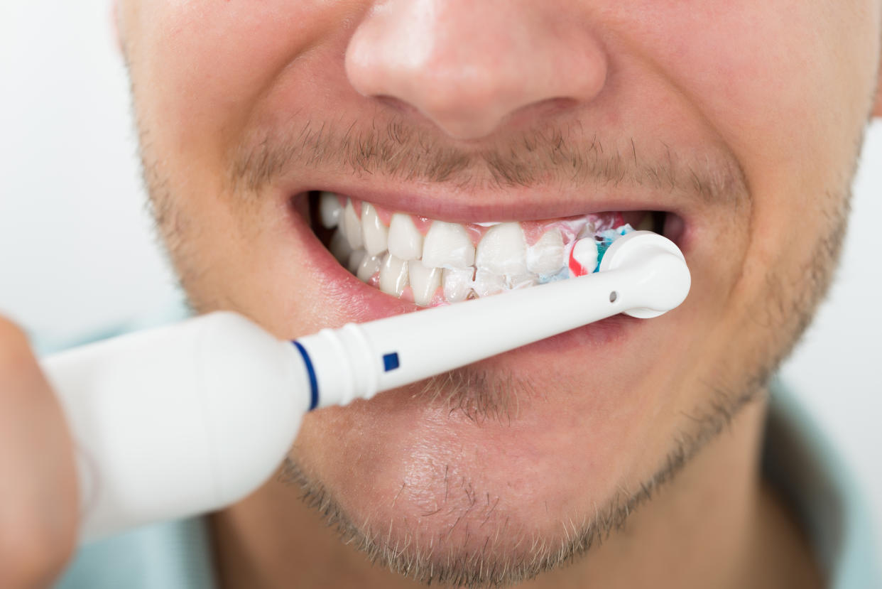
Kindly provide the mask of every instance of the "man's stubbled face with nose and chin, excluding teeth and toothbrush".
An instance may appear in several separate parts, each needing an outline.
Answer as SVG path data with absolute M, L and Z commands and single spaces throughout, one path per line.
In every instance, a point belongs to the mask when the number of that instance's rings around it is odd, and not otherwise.
M 290 468 L 348 532 L 460 580 L 585 547 L 762 389 L 826 288 L 878 72 L 875 0 L 119 13 L 147 182 L 198 311 L 293 338 L 415 309 L 415 286 L 397 298 L 334 260 L 312 191 L 466 226 L 667 214 L 692 274 L 675 311 L 304 419 Z

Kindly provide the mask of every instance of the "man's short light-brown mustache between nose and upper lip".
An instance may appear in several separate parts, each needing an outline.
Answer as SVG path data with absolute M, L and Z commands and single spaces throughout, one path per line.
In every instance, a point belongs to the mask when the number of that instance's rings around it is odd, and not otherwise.
M 658 139 L 602 139 L 578 120 L 534 125 L 471 145 L 400 117 L 348 125 L 293 117 L 246 133 L 228 153 L 228 162 L 234 193 L 260 192 L 281 177 L 309 170 L 458 190 L 634 187 L 714 202 L 749 194 L 744 171 L 724 147 L 697 153 L 677 151 Z

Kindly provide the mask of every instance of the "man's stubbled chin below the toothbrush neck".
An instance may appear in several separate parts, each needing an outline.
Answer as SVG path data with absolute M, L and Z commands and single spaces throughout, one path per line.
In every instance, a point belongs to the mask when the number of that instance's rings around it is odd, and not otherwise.
M 584 374 L 579 350 L 524 349 L 315 412 L 289 478 L 393 570 L 532 576 L 594 543 L 663 459 L 647 456 L 662 398 L 633 353 Z

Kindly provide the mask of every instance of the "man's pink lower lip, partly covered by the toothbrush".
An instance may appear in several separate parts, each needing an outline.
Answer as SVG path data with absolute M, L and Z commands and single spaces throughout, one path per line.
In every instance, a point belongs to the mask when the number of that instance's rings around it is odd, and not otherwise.
M 419 312 L 423 307 L 392 297 L 383 291 L 358 280 L 346 268 L 340 266 L 331 253 L 312 232 L 302 215 L 293 212 L 293 225 L 306 246 L 309 266 L 319 283 L 328 293 L 326 301 L 342 311 L 345 322 L 363 323 L 400 313 Z M 459 304 L 459 303 L 458 303 Z M 467 302 L 463 303 L 467 304 Z M 542 352 L 557 353 L 576 348 L 600 348 L 609 350 L 630 339 L 632 331 L 644 323 L 639 319 L 619 314 L 595 321 L 586 326 L 551 336 L 534 344 L 528 344 L 506 355 Z M 329 326 L 340 327 L 340 326 Z

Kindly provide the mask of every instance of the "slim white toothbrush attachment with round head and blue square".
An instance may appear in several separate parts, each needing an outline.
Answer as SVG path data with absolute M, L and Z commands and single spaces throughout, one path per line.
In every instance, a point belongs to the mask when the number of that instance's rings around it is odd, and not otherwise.
M 370 398 L 617 313 L 654 317 L 682 303 L 691 284 L 683 254 L 650 231 L 618 239 L 601 269 L 302 337 L 318 404 Z

